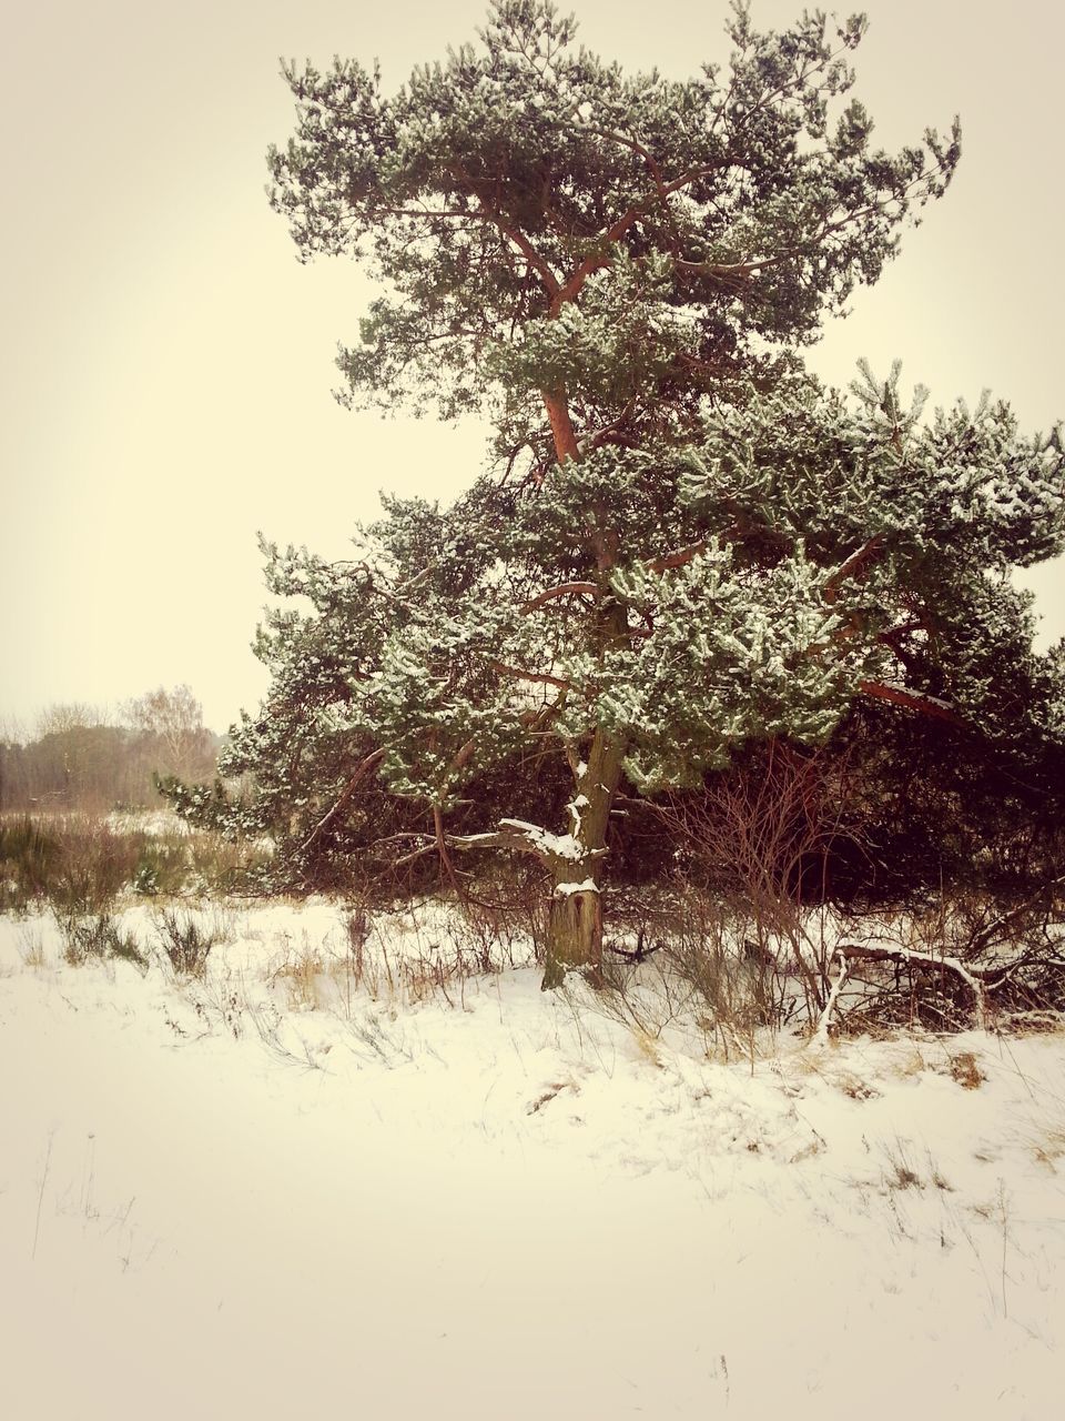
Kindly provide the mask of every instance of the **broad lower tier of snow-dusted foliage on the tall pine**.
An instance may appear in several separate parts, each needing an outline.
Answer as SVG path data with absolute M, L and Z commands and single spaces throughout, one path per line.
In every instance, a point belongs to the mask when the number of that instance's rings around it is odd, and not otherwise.
M 254 770 L 310 831 L 372 752 L 358 799 L 376 776 L 449 813 L 537 743 L 568 750 L 579 786 L 606 728 L 633 786 L 683 786 L 755 736 L 824 740 L 861 693 L 1054 735 L 1058 678 L 1004 571 L 1061 546 L 1058 446 L 1003 406 L 922 423 L 897 398 L 897 379 L 849 401 L 791 381 L 679 449 L 605 446 L 449 510 L 390 502 L 349 563 L 268 549 L 271 590 L 312 610 L 271 615 L 274 689 L 223 769 Z M 1007 486 L 1027 520 L 1003 514 Z M 594 537 L 616 549 L 605 577 Z

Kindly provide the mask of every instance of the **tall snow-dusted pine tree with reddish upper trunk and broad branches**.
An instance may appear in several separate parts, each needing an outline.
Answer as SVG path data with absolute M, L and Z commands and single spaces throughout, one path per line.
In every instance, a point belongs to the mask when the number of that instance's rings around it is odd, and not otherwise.
M 273 205 L 304 260 L 354 256 L 383 293 L 342 396 L 487 412 L 500 468 L 447 510 L 386 502 L 351 563 L 270 550 L 274 591 L 314 607 L 264 632 L 270 705 L 311 753 L 365 752 L 320 823 L 376 776 L 442 854 L 550 870 L 545 985 L 598 969 L 623 777 L 824 739 L 859 693 L 994 702 L 1018 612 L 998 573 L 1061 543 L 1059 446 L 1003 406 L 924 425 L 897 374 L 848 405 L 801 371 L 958 159 L 957 125 L 872 146 L 846 99 L 863 27 L 758 34 L 736 6 L 728 68 L 673 82 L 575 48 L 545 0 L 497 0 L 480 47 L 395 97 L 356 63 L 285 70 Z M 277 733 L 248 720 L 233 753 L 254 767 Z M 470 783 L 530 747 L 568 766 L 564 818 L 454 833 Z

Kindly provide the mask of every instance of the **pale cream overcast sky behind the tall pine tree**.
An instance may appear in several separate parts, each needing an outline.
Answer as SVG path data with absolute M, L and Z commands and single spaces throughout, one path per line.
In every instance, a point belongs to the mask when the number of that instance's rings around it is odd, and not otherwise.
M 487 0 L 38 0 L 9 7 L 0 382 L 0 720 L 189 682 L 207 723 L 254 708 L 256 531 L 342 557 L 381 489 L 450 497 L 484 432 L 332 399 L 368 287 L 301 267 L 266 202 L 293 126 L 278 57 L 379 55 L 388 87 L 471 38 Z M 682 77 L 726 60 L 719 0 L 578 0 L 581 38 Z M 755 0 L 780 26 L 801 0 Z M 1062 7 L 870 0 L 856 94 L 888 146 L 961 114 L 946 199 L 811 364 L 895 357 L 936 402 L 1065 415 L 1056 342 Z M 1062 566 L 1034 580 L 1065 634 Z

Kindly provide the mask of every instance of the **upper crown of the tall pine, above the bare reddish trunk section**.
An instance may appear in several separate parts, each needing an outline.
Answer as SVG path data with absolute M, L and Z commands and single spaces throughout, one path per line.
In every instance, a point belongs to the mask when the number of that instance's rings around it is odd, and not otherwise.
M 290 68 L 274 206 L 304 259 L 355 254 L 395 291 L 341 360 L 351 398 L 490 398 L 535 428 L 545 388 L 621 411 L 693 360 L 717 382 L 808 338 L 957 162 L 957 131 L 872 146 L 845 99 L 863 28 L 758 34 L 737 6 L 730 64 L 674 82 L 578 48 L 545 0 L 496 0 L 480 45 L 392 97 L 356 61 Z

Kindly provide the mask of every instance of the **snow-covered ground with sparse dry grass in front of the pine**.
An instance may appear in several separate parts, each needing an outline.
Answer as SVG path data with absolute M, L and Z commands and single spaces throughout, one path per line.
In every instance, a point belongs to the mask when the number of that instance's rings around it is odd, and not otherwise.
M 219 925 L 179 982 L 0 919 L 7 1421 L 1062 1414 L 1061 1033 L 724 1060 L 430 990 L 432 915 L 362 988 L 335 907 Z

